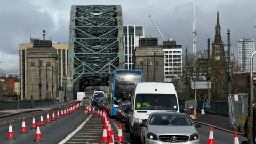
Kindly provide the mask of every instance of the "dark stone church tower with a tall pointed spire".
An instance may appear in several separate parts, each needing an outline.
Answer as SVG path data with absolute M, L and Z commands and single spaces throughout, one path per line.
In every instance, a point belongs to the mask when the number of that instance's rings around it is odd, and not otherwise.
M 219 18 L 219 10 L 217 12 L 217 22 L 215 26 L 215 38 L 212 42 L 212 56 L 216 60 L 224 59 L 225 58 L 225 51 L 224 51 L 224 43 L 221 39 L 220 34 L 220 18 Z

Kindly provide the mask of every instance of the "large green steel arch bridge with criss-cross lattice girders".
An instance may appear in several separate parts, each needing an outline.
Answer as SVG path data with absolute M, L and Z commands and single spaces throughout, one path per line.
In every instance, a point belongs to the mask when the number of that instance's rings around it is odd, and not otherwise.
M 113 70 L 124 69 L 123 39 L 121 5 L 71 6 L 68 95 L 80 83 L 84 87 L 107 85 Z

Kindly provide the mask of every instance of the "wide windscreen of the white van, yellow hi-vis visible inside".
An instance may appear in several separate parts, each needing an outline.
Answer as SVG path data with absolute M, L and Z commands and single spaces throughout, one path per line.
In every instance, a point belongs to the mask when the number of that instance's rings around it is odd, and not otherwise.
M 178 111 L 175 94 L 138 93 L 135 98 L 135 110 L 174 110 Z

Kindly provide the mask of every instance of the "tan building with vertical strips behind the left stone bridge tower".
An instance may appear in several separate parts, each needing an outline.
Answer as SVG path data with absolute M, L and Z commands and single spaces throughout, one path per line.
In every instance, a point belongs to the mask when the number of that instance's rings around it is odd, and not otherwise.
M 67 43 L 57 43 L 53 42 L 52 47 L 54 47 L 58 54 L 58 87 L 59 91 L 63 87 L 62 77 L 68 73 L 68 44 Z M 20 95 L 21 100 L 29 99 L 30 96 L 26 92 L 26 75 L 27 75 L 27 49 L 33 49 L 32 43 L 25 43 L 19 45 L 20 53 Z M 38 82 L 39 83 L 39 82 Z M 38 87 L 39 89 L 39 87 Z

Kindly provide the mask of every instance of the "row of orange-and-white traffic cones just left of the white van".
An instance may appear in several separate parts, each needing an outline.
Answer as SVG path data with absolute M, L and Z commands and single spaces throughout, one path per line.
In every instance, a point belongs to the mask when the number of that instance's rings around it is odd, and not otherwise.
M 114 144 L 114 134 L 113 134 L 113 130 L 111 129 L 111 121 L 107 116 L 106 111 L 103 110 L 102 112 L 102 109 L 100 110 L 100 108 L 98 108 L 98 116 L 102 118 L 102 121 L 104 123 L 101 143 Z M 123 143 L 123 142 L 124 142 L 124 139 L 122 134 L 122 125 L 119 124 L 116 143 Z

